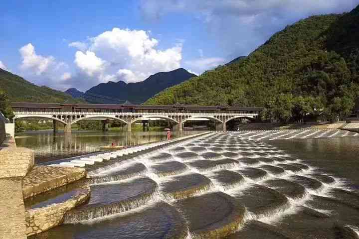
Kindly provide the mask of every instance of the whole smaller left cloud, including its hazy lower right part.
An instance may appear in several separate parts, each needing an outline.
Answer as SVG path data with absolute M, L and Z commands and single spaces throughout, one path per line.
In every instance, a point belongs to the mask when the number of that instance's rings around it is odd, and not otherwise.
M 39 86 L 65 90 L 71 73 L 66 72 L 68 65 L 57 61 L 53 56 L 42 56 L 36 53 L 35 47 L 28 43 L 19 49 L 22 62 L 20 75 Z

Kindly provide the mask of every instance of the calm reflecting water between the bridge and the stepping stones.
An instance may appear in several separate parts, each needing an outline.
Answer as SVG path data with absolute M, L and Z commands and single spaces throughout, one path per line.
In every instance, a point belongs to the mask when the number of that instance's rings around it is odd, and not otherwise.
M 177 132 L 172 132 L 177 136 Z M 183 131 L 182 134 L 196 133 Z M 102 146 L 112 143 L 119 146 L 134 146 L 158 140 L 165 140 L 166 132 L 99 132 L 73 131 L 71 134 L 52 130 L 27 131 L 15 135 L 18 147 L 26 147 L 35 151 L 37 163 L 61 159 L 86 153 L 98 152 Z

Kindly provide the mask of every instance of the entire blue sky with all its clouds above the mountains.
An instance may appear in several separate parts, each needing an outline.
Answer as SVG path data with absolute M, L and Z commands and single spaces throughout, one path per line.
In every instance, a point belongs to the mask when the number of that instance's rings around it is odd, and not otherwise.
M 91 3 L 89 3 L 91 2 Z M 1 1 L 0 67 L 59 90 L 200 74 L 247 55 L 287 24 L 359 0 Z M 5 10 L 4 10 L 5 9 Z

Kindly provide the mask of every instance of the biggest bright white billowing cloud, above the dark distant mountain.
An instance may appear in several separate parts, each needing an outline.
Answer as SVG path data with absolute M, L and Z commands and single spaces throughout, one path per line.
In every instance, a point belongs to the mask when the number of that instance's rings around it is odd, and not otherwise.
M 73 82 L 77 85 L 102 83 L 107 81 L 139 82 L 152 74 L 171 71 L 180 67 L 182 42 L 175 42 L 167 49 L 158 49 L 159 40 L 144 30 L 113 28 L 88 39 L 72 42 L 71 46 L 82 48 L 75 54 L 74 63 L 79 75 Z M 86 80 L 86 82 L 84 82 Z

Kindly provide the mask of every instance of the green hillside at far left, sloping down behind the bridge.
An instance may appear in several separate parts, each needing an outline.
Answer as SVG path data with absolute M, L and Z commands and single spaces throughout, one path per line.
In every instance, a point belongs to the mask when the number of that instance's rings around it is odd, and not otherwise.
M 43 102 L 43 103 L 77 103 L 84 102 L 73 99 L 61 91 L 46 86 L 36 86 L 22 77 L 0 69 L 0 90 L 6 93 L 10 102 Z

